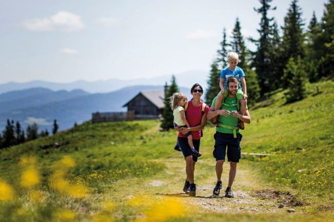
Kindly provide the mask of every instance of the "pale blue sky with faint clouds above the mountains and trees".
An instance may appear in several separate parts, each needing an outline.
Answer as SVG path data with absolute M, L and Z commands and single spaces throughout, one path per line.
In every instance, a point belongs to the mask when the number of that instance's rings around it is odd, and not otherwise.
M 305 28 L 327 2 L 299 1 Z M 290 3 L 271 3 L 280 26 Z M 236 17 L 245 37 L 257 37 L 254 7 L 258 0 L 2 0 L 0 84 L 209 72 L 222 29 L 230 35 Z

